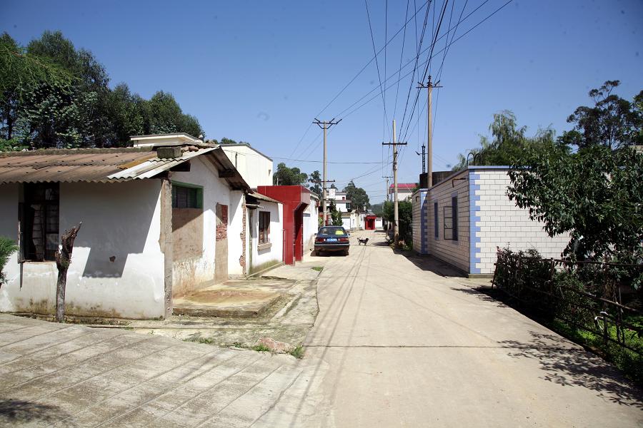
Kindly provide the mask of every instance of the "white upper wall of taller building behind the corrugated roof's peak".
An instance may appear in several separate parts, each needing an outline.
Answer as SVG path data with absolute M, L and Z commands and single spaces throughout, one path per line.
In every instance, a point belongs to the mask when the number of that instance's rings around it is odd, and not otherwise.
M 245 144 L 222 144 L 221 148 L 251 188 L 272 185 L 274 169 L 271 159 Z

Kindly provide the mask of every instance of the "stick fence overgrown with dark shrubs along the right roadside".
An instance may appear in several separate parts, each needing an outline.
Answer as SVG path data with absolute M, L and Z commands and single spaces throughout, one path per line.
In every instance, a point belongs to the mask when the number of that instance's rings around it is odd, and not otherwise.
M 520 307 L 643 356 L 643 265 L 544 259 L 498 250 L 492 287 Z

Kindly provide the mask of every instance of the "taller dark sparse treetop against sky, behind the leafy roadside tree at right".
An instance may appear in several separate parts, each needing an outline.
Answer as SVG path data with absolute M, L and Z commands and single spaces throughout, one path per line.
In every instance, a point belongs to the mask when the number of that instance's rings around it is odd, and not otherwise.
M 589 91 L 594 107 L 579 106 L 568 118 L 574 123 L 560 141 L 569 146 L 587 148 L 607 146 L 612 149 L 643 144 L 643 91 L 634 102 L 612 93 L 619 81 L 606 81 L 600 88 Z

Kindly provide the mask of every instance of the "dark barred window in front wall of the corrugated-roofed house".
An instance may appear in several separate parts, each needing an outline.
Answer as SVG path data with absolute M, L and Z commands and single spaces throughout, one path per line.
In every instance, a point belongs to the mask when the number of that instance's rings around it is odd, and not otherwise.
M 59 245 L 59 183 L 26 183 L 19 204 L 23 260 L 54 261 Z

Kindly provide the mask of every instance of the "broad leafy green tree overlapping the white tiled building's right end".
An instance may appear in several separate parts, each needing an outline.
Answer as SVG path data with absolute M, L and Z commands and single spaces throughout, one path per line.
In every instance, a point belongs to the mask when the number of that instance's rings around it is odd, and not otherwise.
M 507 195 L 544 223 L 549 236 L 569 233 L 564 255 L 643 257 L 643 155 L 603 145 L 570 154 L 550 144 L 527 151 L 512 167 Z

